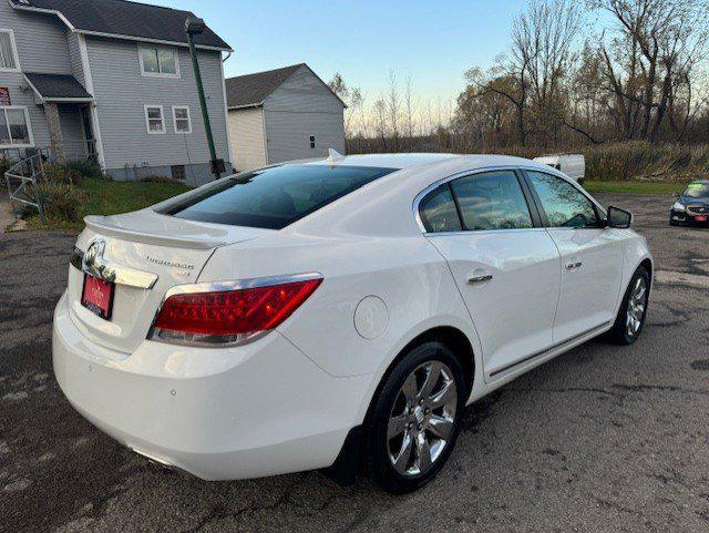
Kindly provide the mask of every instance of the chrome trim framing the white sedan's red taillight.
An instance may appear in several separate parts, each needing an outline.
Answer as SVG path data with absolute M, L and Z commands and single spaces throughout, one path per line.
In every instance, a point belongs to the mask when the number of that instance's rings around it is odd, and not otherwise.
M 204 281 L 198 284 L 184 284 L 184 285 L 175 285 L 165 291 L 163 299 L 157 306 L 157 310 L 155 311 L 155 316 L 153 317 L 153 321 L 151 322 L 151 327 L 147 330 L 146 340 L 153 340 L 155 342 L 164 342 L 167 345 L 177 345 L 177 346 L 191 346 L 195 348 L 230 348 L 235 346 L 243 346 L 249 342 L 254 342 L 255 340 L 265 337 L 271 329 L 265 331 L 258 331 L 247 337 L 240 338 L 238 340 L 229 341 L 229 342 L 208 342 L 208 341 L 189 341 L 189 340 L 166 340 L 161 339 L 155 336 L 155 322 L 157 321 L 157 317 L 160 312 L 163 310 L 165 306 L 165 301 L 171 296 L 183 295 L 183 294 L 195 294 L 195 293 L 219 293 L 224 290 L 242 290 L 249 289 L 255 287 L 269 287 L 271 285 L 282 285 L 288 283 L 296 281 L 309 281 L 311 279 L 323 279 L 322 274 L 317 271 L 311 273 L 302 273 L 302 274 L 286 274 L 281 276 L 268 276 L 260 278 L 247 278 L 247 279 L 237 279 L 229 281 Z

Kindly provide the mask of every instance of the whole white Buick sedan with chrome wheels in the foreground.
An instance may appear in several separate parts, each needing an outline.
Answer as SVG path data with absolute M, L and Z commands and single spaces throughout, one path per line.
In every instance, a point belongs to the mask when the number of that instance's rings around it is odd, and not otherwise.
M 630 214 L 506 156 L 361 155 L 86 217 L 54 312 L 69 401 L 206 480 L 441 470 L 464 407 L 600 334 L 653 275 Z

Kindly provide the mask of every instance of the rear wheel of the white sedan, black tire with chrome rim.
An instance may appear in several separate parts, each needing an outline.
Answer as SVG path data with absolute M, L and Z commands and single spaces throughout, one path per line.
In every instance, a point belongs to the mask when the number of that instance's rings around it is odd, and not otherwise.
M 463 369 L 450 348 L 427 341 L 409 349 L 384 377 L 367 416 L 367 475 L 394 494 L 431 481 L 455 445 L 466 396 Z

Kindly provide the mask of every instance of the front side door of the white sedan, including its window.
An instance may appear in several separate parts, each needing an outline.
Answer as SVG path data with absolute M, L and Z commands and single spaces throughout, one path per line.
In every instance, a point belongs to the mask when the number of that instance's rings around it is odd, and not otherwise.
M 554 341 L 563 342 L 615 318 L 623 275 L 623 243 L 600 212 L 568 181 L 538 171 L 525 176 L 562 257 L 562 290 Z

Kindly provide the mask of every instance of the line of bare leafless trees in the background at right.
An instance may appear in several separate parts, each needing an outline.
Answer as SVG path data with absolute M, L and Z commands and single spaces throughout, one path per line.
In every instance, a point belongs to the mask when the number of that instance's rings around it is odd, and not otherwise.
M 708 0 L 532 0 L 508 49 L 455 102 L 415 101 L 393 71 L 373 102 L 340 74 L 348 148 L 564 150 L 709 142 Z

